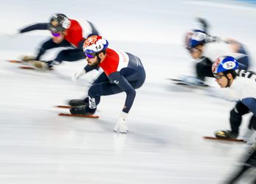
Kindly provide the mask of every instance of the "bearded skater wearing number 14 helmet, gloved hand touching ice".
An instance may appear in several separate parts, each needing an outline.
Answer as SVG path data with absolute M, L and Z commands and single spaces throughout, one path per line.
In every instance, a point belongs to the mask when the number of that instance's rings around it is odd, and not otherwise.
M 108 48 L 108 41 L 97 35 L 86 39 L 83 51 L 88 64 L 83 71 L 75 74 L 75 78 L 99 67 L 104 72 L 91 85 L 86 99 L 70 102 L 70 105 L 76 106 L 72 107 L 70 112 L 82 115 L 94 114 L 100 103 L 100 96 L 125 92 L 125 105 L 114 131 L 127 132 L 126 117 L 136 96 L 135 89 L 141 87 L 145 81 L 145 70 L 141 60 L 133 54 Z

